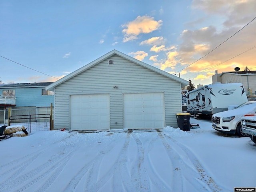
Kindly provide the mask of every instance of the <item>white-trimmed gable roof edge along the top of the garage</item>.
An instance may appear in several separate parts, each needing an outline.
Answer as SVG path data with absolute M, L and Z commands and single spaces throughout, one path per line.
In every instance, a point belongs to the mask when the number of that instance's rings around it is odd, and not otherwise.
M 92 66 L 95 66 L 96 64 L 102 62 L 103 60 L 106 60 L 106 59 L 110 58 L 111 56 L 113 56 L 113 55 L 115 55 L 115 54 L 118 55 L 118 56 L 120 56 L 120 57 L 122 57 L 122 58 L 124 58 L 124 59 L 130 60 L 130 61 L 132 61 L 132 62 L 134 62 L 134 63 L 136 63 L 136 64 L 138 64 L 138 65 L 140 65 L 140 66 L 143 66 L 143 67 L 145 67 L 145 68 L 148 68 L 148 69 L 150 69 L 150 70 L 152 70 L 152 71 L 154 71 L 154 72 L 157 72 L 157 73 L 159 73 L 159 74 L 162 74 L 162 75 L 164 75 L 164 76 L 166 76 L 166 77 L 168 77 L 168 78 L 170 78 L 170 79 L 176 80 L 176 81 L 178 81 L 178 82 L 181 83 L 181 87 L 184 87 L 184 86 L 188 85 L 188 83 L 189 83 L 188 81 L 186 81 L 186 80 L 184 80 L 184 79 L 182 79 L 182 78 L 176 77 L 175 75 L 172 75 L 172 74 L 170 74 L 170 73 L 168 73 L 168 72 L 165 72 L 165 71 L 163 71 L 163 70 L 160 70 L 160 69 L 158 69 L 158 68 L 156 68 L 156 67 L 154 67 L 154 66 L 151 66 L 151 65 L 146 64 L 146 63 L 144 63 L 144 62 L 142 62 L 142 61 L 139 61 L 139 60 L 137 60 L 137 59 L 135 59 L 135 58 L 133 58 L 133 57 L 131 57 L 131 56 L 128 56 L 128 55 L 126 55 L 126 54 L 123 54 L 122 52 L 119 52 L 119 51 L 117 51 L 117 50 L 112 50 L 112 51 L 108 52 L 107 54 L 101 56 L 100 58 L 98 58 L 98 59 L 96 59 L 96 60 L 90 62 L 89 64 L 83 66 L 82 68 L 80 68 L 80 69 L 78 69 L 78 70 L 76 70 L 76 71 L 74 71 L 74 72 L 68 74 L 67 76 L 64 76 L 64 77 L 61 78 L 60 80 L 57 80 L 56 82 L 50 84 L 49 86 L 46 87 L 46 90 L 54 91 L 54 88 L 55 88 L 56 86 L 58 86 L 58 85 L 60 85 L 61 83 L 63 83 L 63 82 L 65 82 L 65 81 L 69 80 L 70 78 L 72 78 L 72 77 L 74 77 L 74 76 L 80 74 L 81 72 L 84 72 L 85 70 L 91 68 Z

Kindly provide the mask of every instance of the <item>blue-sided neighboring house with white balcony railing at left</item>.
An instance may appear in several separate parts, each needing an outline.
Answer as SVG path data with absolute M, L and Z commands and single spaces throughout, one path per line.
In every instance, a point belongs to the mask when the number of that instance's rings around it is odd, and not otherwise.
M 4 108 L 41 108 L 54 103 L 54 92 L 46 90 L 51 82 L 0 84 L 0 110 Z

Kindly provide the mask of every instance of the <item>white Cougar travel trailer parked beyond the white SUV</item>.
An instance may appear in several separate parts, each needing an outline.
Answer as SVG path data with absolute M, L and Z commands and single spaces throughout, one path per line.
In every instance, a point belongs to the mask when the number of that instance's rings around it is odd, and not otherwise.
M 186 94 L 187 111 L 194 117 L 226 111 L 248 101 L 241 83 L 210 84 Z

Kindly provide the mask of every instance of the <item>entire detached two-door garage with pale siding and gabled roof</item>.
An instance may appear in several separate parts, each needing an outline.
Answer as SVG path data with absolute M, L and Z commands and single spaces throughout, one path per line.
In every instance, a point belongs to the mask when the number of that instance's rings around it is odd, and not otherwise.
M 54 128 L 68 130 L 177 127 L 186 80 L 117 50 L 50 84 Z

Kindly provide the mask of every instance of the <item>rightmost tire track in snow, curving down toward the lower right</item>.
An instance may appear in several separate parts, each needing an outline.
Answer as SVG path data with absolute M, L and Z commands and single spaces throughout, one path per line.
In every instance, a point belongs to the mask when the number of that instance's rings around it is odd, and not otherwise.
M 190 162 L 192 162 L 192 166 L 194 166 L 197 170 L 197 175 L 199 176 L 198 179 L 206 185 L 206 186 L 202 186 L 203 188 L 205 188 L 205 189 L 209 188 L 213 192 L 222 191 L 222 189 L 215 183 L 213 178 L 208 176 L 208 174 L 205 172 L 203 166 L 197 160 L 197 158 L 193 154 L 193 152 L 191 152 L 186 146 L 184 146 L 182 143 L 178 142 L 174 138 L 172 138 L 168 135 L 164 135 L 164 137 L 168 138 L 168 140 L 172 141 L 174 144 L 176 144 L 176 146 L 178 148 L 180 148 L 187 154 L 187 157 L 190 159 Z M 225 191 L 228 191 L 228 189 L 225 189 Z

